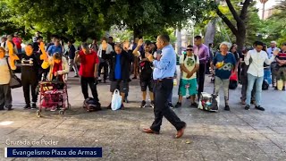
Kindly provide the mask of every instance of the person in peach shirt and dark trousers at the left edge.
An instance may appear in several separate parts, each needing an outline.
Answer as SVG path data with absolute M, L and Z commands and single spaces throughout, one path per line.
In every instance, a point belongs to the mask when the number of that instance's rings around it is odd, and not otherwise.
M 11 88 L 9 85 L 11 80 L 9 66 L 12 70 L 15 70 L 16 66 L 12 65 L 7 59 L 4 47 L 0 47 L 0 111 L 4 110 L 4 107 L 8 110 L 13 110 Z

